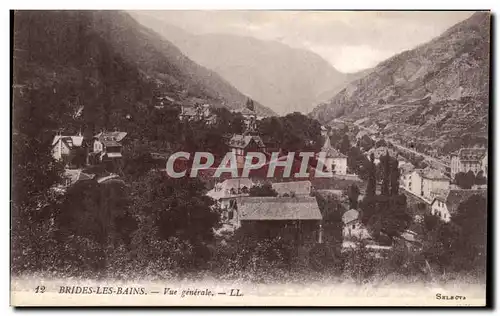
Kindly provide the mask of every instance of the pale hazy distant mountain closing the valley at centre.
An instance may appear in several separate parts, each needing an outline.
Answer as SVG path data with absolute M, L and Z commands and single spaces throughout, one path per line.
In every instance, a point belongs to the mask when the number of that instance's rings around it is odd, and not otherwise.
M 308 50 L 238 35 L 195 35 L 168 21 L 140 12 L 132 14 L 172 41 L 189 58 L 279 114 L 308 113 L 324 99 L 322 94 L 344 87 L 348 80 L 348 76 Z

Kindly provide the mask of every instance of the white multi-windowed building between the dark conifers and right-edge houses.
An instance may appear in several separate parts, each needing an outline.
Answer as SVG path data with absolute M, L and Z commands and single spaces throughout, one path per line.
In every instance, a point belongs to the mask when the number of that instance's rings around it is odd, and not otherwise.
M 401 186 L 410 193 L 427 201 L 449 190 L 450 179 L 435 169 L 415 169 L 401 175 Z

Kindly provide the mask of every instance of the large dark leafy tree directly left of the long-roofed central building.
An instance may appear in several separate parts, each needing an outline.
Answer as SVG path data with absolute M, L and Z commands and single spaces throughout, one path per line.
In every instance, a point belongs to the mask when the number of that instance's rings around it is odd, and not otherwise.
M 130 209 L 138 218 L 131 251 L 140 254 L 140 265 L 169 263 L 184 271 L 207 264 L 221 210 L 205 191 L 198 179 L 160 173 L 131 183 Z

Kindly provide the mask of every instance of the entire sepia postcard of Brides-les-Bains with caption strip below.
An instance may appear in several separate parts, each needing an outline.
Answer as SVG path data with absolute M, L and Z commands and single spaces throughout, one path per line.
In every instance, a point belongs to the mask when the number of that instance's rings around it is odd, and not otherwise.
M 10 19 L 11 306 L 491 304 L 490 11 Z

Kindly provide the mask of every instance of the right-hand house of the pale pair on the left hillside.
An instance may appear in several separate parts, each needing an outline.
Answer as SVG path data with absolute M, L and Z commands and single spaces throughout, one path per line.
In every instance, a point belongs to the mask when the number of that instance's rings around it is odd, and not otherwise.
M 122 158 L 122 142 L 127 136 L 125 132 L 100 132 L 94 136 L 91 163 L 99 164 L 106 161 L 116 161 Z

